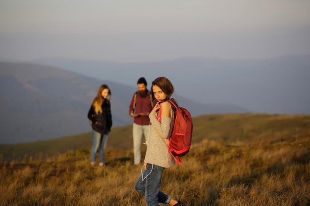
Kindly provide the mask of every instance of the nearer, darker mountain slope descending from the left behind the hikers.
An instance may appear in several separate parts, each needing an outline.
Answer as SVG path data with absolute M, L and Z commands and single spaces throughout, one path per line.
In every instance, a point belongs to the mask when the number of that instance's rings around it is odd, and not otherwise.
M 91 73 L 93 70 L 89 69 Z M 87 112 L 103 83 L 112 91 L 113 127 L 132 124 L 128 107 L 137 90 L 136 81 L 143 75 L 136 75 L 132 86 L 98 78 L 111 75 L 126 77 L 125 72 L 110 67 L 102 68 L 97 78 L 92 78 L 44 64 L 0 62 L 0 144 L 34 142 L 91 131 Z M 183 79 L 190 87 L 186 77 Z M 173 97 L 194 117 L 251 112 L 235 104 L 197 103 L 184 98 L 182 90 L 178 92 Z

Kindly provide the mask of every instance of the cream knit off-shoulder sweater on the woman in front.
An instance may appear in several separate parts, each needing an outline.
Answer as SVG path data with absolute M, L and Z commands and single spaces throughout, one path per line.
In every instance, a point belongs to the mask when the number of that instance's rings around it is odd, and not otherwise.
M 171 106 L 171 105 L 170 105 Z M 171 117 L 161 116 L 161 123 L 156 118 L 156 113 L 150 113 L 151 130 L 147 143 L 147 152 L 144 162 L 161 167 L 171 167 L 175 160 L 168 152 L 168 140 L 174 125 L 173 110 Z

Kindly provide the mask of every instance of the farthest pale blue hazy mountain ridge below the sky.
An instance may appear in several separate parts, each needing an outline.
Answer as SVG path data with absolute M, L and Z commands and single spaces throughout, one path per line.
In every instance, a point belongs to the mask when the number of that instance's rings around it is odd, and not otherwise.
M 142 76 L 149 84 L 165 76 L 174 84 L 176 94 L 204 105 L 232 104 L 255 113 L 310 114 L 310 55 L 127 64 L 70 59 L 34 62 L 130 86 Z

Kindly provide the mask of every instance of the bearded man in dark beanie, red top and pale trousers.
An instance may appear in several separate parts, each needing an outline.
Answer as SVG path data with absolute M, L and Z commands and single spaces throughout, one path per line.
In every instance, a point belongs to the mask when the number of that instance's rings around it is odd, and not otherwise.
M 132 137 L 134 143 L 134 165 L 141 162 L 141 144 L 144 135 L 145 142 L 149 138 L 150 119 L 149 114 L 153 109 L 151 92 L 147 89 L 147 81 L 141 77 L 138 82 L 138 91 L 132 96 L 129 105 L 129 115 L 134 118 L 132 125 Z

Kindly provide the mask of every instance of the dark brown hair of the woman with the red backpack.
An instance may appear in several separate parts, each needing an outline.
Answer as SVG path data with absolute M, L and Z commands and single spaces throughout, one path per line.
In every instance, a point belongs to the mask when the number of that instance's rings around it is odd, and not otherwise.
M 173 84 L 170 82 L 170 80 L 168 80 L 165 77 L 158 77 L 156 78 L 153 82 L 152 82 L 152 86 L 151 86 L 151 92 L 152 92 L 152 101 L 154 103 L 157 102 L 157 100 L 155 99 L 154 96 L 154 92 L 153 92 L 153 86 L 158 86 L 165 94 L 166 94 L 166 98 L 163 99 L 163 101 L 167 101 L 168 99 L 172 100 L 173 103 L 178 106 L 178 104 L 176 103 L 176 101 L 171 98 L 171 95 L 174 92 L 174 86 Z M 174 106 L 172 107 L 174 108 Z

